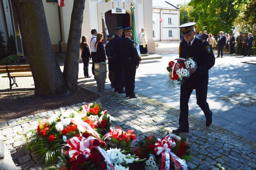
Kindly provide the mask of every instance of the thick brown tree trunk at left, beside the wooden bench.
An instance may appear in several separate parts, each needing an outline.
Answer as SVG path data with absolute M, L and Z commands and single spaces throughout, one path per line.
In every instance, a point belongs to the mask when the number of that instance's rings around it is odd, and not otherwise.
M 35 95 L 65 93 L 67 85 L 52 49 L 42 0 L 11 2 L 34 78 Z

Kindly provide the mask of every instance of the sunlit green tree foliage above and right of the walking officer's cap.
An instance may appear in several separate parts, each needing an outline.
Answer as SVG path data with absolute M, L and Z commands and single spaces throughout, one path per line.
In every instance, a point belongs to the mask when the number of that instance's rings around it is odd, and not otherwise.
M 188 14 L 197 22 L 196 30 L 218 35 L 220 31 L 229 33 L 234 30 L 234 20 L 246 0 L 191 0 L 192 11 Z

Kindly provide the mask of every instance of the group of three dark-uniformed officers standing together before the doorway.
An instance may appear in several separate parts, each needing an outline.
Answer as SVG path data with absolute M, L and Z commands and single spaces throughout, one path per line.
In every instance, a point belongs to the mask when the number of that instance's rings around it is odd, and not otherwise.
M 139 66 L 139 55 L 136 43 L 132 38 L 132 27 L 115 28 L 114 34 L 107 36 L 106 55 L 111 87 L 118 93 L 126 93 L 126 97 L 138 97 L 134 93 L 135 74 Z M 125 38 L 121 38 L 124 32 Z M 125 90 L 124 90 L 125 89 Z

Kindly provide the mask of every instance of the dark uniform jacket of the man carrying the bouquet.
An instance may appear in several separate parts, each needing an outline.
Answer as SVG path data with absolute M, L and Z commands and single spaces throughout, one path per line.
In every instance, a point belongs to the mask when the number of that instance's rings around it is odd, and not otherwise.
M 180 43 L 180 57 L 193 57 L 197 63 L 196 72 L 183 83 L 183 85 L 192 85 L 194 87 L 203 87 L 208 85 L 208 70 L 215 64 L 215 57 L 209 43 L 205 40 L 195 38 L 188 52 L 188 42 Z

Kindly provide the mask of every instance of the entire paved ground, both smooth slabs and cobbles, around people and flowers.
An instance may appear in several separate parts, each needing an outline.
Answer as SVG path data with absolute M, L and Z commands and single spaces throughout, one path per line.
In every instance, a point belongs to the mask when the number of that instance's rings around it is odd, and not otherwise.
M 142 61 L 136 73 L 135 91 L 139 95 L 137 99 L 128 99 L 125 98 L 125 94 L 114 93 L 110 89 L 110 83 L 106 83 L 105 92 L 100 94 L 102 95 L 100 101 L 102 108 L 108 110 L 111 115 L 113 126 L 118 125 L 125 130 L 134 129 L 139 138 L 150 134 L 162 138 L 167 132 L 178 127 L 179 88 L 170 92 L 164 86 L 168 76 L 166 71 L 168 62 L 178 57 L 176 53 L 170 54 L 170 50 L 176 48 L 178 48 L 177 43 L 160 42 L 159 49 L 162 51 L 160 55 L 163 58 Z M 191 96 L 190 132 L 180 135 L 188 137 L 191 144 L 193 159 L 188 163 L 189 169 L 218 170 L 216 164 L 221 164 L 226 170 L 255 169 L 256 105 L 254 103 L 256 99 L 253 97 L 256 95 L 256 65 L 241 63 L 250 60 L 256 61 L 256 57 L 225 54 L 224 58 L 217 58 L 216 65 L 210 69 L 208 103 L 214 112 L 213 124 L 210 127 L 205 127 L 205 118 L 196 105 L 195 95 Z M 63 69 L 62 66 L 61 68 Z M 86 83 L 83 82 L 85 79 L 82 79 L 81 68 L 80 63 L 79 84 L 97 92 L 95 81 L 86 79 Z M 32 81 L 24 80 L 19 87 L 28 87 L 28 84 L 33 86 Z M 0 89 L 2 89 L 2 78 L 0 78 Z M 80 105 L 82 104 L 74 103 L 65 108 L 77 109 Z M 48 117 L 58 110 L 59 108 L 56 108 L 46 113 L 0 123 L 0 139 L 11 151 L 18 169 L 44 167 L 44 164 L 40 164 L 40 158 L 29 151 L 24 151 L 26 136 L 24 133 L 36 128 L 38 119 Z M 240 136 L 242 135 L 240 133 L 245 135 Z

